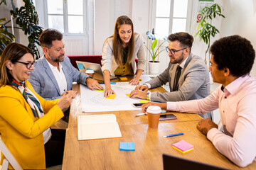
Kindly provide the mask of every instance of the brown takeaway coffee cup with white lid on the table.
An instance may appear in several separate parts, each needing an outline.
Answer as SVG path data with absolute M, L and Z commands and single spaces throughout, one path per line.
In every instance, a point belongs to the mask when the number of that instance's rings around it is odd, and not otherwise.
M 149 128 L 158 128 L 161 108 L 159 106 L 149 106 L 146 112 L 148 113 Z

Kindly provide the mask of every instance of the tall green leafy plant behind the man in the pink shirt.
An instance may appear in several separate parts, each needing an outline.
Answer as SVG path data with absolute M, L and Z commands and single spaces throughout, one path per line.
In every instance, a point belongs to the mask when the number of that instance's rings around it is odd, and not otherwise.
M 196 35 L 199 35 L 200 40 L 203 40 L 203 42 L 208 45 L 207 50 L 206 50 L 206 55 L 207 52 L 210 48 L 210 37 L 212 36 L 213 38 L 215 37 L 216 34 L 220 33 L 220 31 L 215 28 L 215 26 L 212 25 L 213 18 L 216 16 L 221 16 L 225 18 L 222 14 L 222 7 L 220 7 L 218 4 L 213 4 L 212 6 L 204 7 L 203 10 L 201 11 L 201 21 L 198 23 L 198 32 Z M 195 35 L 195 37 L 196 37 Z M 206 62 L 206 55 L 205 55 L 205 62 Z M 209 54 L 210 58 L 210 54 Z

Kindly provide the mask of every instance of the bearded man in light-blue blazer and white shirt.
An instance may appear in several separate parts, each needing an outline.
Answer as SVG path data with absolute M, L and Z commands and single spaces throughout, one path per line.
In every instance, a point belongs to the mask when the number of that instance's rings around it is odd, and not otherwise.
M 63 35 L 58 30 L 44 30 L 39 42 L 44 55 L 34 64 L 35 69 L 28 81 L 40 96 L 46 100 L 60 98 L 65 91 L 72 89 L 73 81 L 85 84 L 92 90 L 103 89 L 95 79 L 73 67 L 65 56 Z

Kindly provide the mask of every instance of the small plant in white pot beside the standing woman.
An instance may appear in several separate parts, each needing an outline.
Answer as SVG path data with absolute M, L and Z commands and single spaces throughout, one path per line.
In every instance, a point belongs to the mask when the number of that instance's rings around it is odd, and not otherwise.
M 164 51 L 164 50 L 160 50 L 160 47 L 161 47 L 161 45 L 164 44 L 164 42 L 166 42 L 167 39 L 164 38 L 164 41 L 161 42 L 161 44 L 159 44 L 158 47 L 156 48 L 159 40 L 156 40 L 155 35 L 152 33 L 149 33 L 149 31 L 146 32 L 146 35 L 148 36 L 148 38 L 150 40 L 150 44 L 149 44 L 150 48 L 146 47 L 146 45 L 145 45 L 145 47 L 149 51 L 149 55 L 152 58 L 152 60 L 149 61 L 149 74 L 158 74 L 160 62 L 156 61 L 156 57 L 158 57 L 159 54 Z

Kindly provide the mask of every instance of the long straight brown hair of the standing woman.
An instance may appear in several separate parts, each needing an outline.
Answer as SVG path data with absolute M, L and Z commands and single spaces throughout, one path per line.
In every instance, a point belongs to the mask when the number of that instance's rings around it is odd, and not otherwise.
M 113 38 L 113 55 L 114 61 L 117 64 L 122 64 L 123 62 L 123 47 L 122 47 L 122 40 L 119 37 L 118 30 L 123 24 L 128 24 L 132 27 L 132 37 L 128 42 L 128 55 L 127 55 L 127 63 L 131 63 L 133 59 L 134 53 L 134 26 L 132 20 L 128 16 L 119 16 L 114 26 L 114 35 L 110 38 Z

